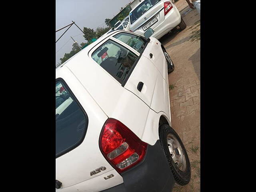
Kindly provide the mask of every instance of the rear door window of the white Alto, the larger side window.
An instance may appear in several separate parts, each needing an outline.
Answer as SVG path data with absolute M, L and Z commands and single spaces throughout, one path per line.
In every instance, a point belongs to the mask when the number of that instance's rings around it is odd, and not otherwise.
M 138 56 L 124 46 L 107 40 L 92 53 L 92 58 L 122 84 Z

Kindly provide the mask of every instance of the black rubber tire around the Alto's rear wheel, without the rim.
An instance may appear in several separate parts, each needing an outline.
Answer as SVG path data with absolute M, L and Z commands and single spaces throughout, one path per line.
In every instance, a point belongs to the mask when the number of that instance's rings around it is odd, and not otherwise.
M 177 165 L 175 164 L 175 162 L 171 156 L 171 153 L 169 151 L 167 138 L 170 135 L 172 135 L 173 137 L 176 138 L 176 140 L 178 141 L 180 148 L 182 150 L 183 158 L 186 162 L 183 167 L 183 170 L 180 170 L 177 167 Z M 184 186 L 184 185 L 188 184 L 190 182 L 190 178 L 191 178 L 191 168 L 190 168 L 188 154 L 186 152 L 184 144 L 182 143 L 182 140 L 180 139 L 178 134 L 174 131 L 174 129 L 171 128 L 167 124 L 163 124 L 162 126 L 160 126 L 159 138 L 160 138 L 160 143 L 161 143 L 162 149 L 164 150 L 164 154 L 167 158 L 167 161 L 169 163 L 169 166 L 170 166 L 170 169 L 174 176 L 174 180 L 175 180 L 176 184 L 178 184 L 179 186 Z

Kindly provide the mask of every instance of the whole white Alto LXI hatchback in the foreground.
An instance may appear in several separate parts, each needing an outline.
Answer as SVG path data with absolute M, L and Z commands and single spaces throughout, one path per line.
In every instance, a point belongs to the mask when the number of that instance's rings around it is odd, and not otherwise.
M 156 38 L 118 30 L 56 69 L 69 100 L 56 104 L 56 191 L 170 192 L 188 184 L 188 155 L 171 128 L 166 55 Z

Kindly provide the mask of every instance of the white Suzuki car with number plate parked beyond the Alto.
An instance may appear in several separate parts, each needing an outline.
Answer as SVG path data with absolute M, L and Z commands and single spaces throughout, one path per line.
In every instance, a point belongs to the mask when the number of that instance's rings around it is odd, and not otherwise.
M 148 28 L 154 30 L 156 39 L 170 32 L 176 26 L 186 28 L 179 10 L 170 0 L 144 0 L 129 13 L 130 31 L 143 35 Z

